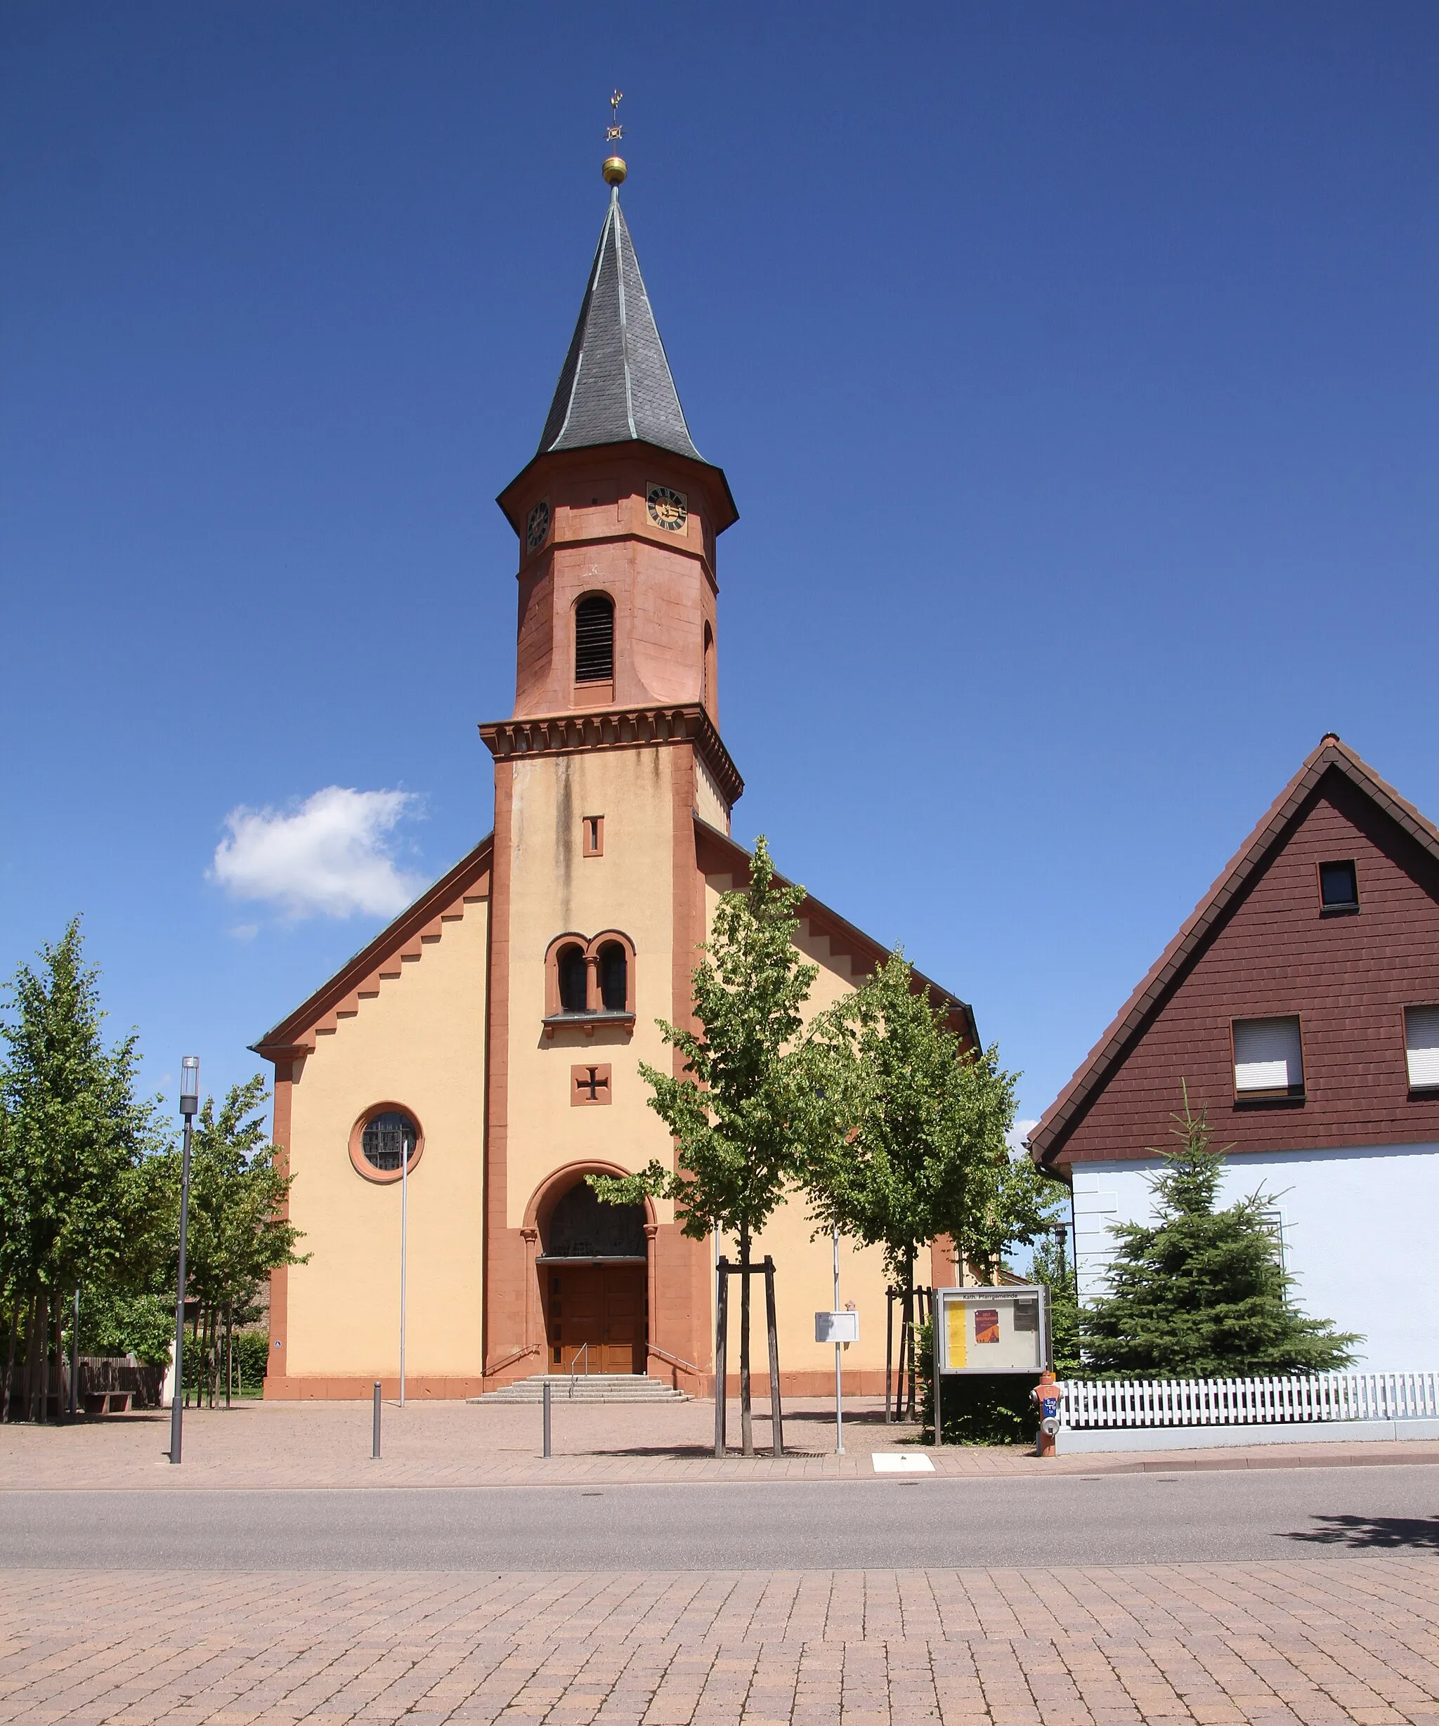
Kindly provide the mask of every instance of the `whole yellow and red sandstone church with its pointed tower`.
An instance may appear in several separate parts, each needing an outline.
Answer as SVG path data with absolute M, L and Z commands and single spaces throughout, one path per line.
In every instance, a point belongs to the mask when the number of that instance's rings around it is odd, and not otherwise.
M 493 832 L 255 1044 L 311 1255 L 273 1277 L 267 1396 L 393 1393 L 402 1200 L 409 1395 L 571 1367 L 713 1391 L 714 1255 L 735 1244 L 685 1239 L 668 1203 L 600 1205 L 585 1181 L 673 1160 L 638 1063 L 678 1070 L 656 1022 L 694 1022 L 718 896 L 749 882 L 720 732 L 716 547 L 737 509 L 690 438 L 623 176 L 611 159 L 540 445 L 499 497 L 519 604 L 514 711 L 480 727 Z M 814 1011 L 885 956 L 813 898 L 797 944 L 820 965 Z M 935 999 L 977 1046 L 970 1008 Z M 783 1388 L 832 1389 L 813 1329 L 828 1236 L 811 1239 L 797 1198 L 754 1251 L 776 1265 Z M 954 1281 L 942 1243 L 918 1274 Z M 845 1388 L 877 1391 L 878 1248 L 844 1248 L 842 1300 L 861 1319 Z M 728 1360 L 733 1391 L 735 1338 Z

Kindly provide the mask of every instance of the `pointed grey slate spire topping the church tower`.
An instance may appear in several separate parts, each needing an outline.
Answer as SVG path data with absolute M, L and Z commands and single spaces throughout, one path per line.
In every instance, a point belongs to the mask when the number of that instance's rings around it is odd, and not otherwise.
M 704 461 L 685 425 L 614 186 L 537 454 L 632 438 Z

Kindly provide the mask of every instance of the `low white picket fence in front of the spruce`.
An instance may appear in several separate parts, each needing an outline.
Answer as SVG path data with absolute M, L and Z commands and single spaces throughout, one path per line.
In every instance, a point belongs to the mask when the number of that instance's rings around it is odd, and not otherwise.
M 1308 1379 L 1116 1379 L 1063 1383 L 1059 1424 L 1273 1426 L 1439 1417 L 1439 1372 L 1322 1372 Z

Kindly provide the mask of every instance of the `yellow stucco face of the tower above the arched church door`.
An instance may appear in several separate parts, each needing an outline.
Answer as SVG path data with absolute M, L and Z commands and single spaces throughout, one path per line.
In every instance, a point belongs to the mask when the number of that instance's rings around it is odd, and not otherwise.
M 535 1189 L 566 1163 L 595 1158 L 642 1169 L 669 1156 L 647 1108 L 638 1061 L 668 1067 L 656 1029 L 671 1008 L 675 751 L 606 749 L 512 765 L 509 946 L 507 1222 L 519 1227 Z M 604 816 L 604 856 L 581 854 L 581 822 Z M 618 929 L 635 946 L 635 1025 L 547 1037 L 545 951 L 568 930 Z M 613 1101 L 575 1108 L 571 1067 L 609 1063 Z M 656 1208 L 661 1222 L 671 1206 Z

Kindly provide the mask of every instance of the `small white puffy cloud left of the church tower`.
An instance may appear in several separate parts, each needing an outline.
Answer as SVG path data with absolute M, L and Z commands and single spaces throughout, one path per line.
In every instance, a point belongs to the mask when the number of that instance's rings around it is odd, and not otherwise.
M 211 880 L 292 918 L 393 917 L 423 887 L 395 866 L 390 842 L 418 801 L 409 791 L 326 785 L 288 813 L 242 804 L 224 818 L 229 832 L 216 846 Z

